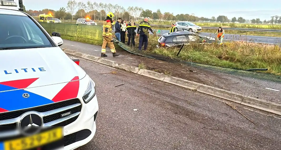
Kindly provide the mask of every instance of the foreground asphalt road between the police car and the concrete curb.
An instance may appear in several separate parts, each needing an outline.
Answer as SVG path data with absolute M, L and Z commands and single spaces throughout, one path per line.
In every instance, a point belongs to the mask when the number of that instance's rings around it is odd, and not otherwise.
M 99 114 L 95 137 L 76 150 L 281 149 L 280 117 L 231 104 L 255 125 L 221 99 L 81 58 L 80 66 L 96 82 Z

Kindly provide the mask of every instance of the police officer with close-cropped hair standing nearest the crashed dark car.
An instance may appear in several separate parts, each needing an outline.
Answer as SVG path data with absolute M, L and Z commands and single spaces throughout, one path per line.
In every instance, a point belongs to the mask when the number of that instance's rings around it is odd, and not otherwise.
M 144 21 L 140 22 L 140 25 L 138 27 L 138 35 L 140 36 L 139 38 L 139 50 L 141 50 L 142 47 L 142 42 L 144 42 L 144 50 L 147 49 L 147 42 L 148 42 L 148 35 L 150 30 L 153 34 L 153 30 L 150 27 L 150 24 L 147 22 L 148 18 L 144 18 Z

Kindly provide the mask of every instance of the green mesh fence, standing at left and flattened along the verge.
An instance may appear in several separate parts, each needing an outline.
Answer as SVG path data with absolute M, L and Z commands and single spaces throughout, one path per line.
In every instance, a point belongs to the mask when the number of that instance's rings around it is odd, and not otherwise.
M 58 32 L 61 35 L 67 35 L 67 36 L 71 36 L 71 37 L 102 40 L 101 26 L 90 26 L 90 25 L 82 25 L 82 24 L 59 24 L 59 23 L 46 23 L 46 22 L 40 22 L 40 24 L 43 26 L 43 28 L 46 29 L 46 31 L 48 33 Z M 116 41 L 116 39 L 114 39 L 114 40 Z M 204 64 L 199 64 L 199 63 L 191 63 L 191 62 L 179 60 L 177 58 L 170 58 L 170 57 L 166 57 L 166 56 L 160 56 L 157 54 L 146 53 L 145 51 L 144 52 L 138 51 L 137 49 L 127 46 L 126 44 L 123 44 L 121 42 L 119 42 L 118 45 L 130 53 L 137 54 L 140 56 L 145 56 L 148 58 L 154 58 L 154 59 L 159 59 L 159 60 L 164 60 L 164 61 L 169 61 L 169 62 L 174 62 L 174 63 L 184 63 L 187 65 L 192 65 L 194 67 L 205 67 L 205 68 L 210 69 L 215 72 L 224 72 L 224 73 L 238 75 L 238 76 L 281 82 L 281 76 L 275 76 L 272 74 L 266 74 L 266 73 L 260 73 L 260 72 L 251 72 L 251 71 L 243 71 L 243 70 L 236 70 L 236 69 L 230 69 L 230 68 L 222 68 L 222 67 L 204 65 Z

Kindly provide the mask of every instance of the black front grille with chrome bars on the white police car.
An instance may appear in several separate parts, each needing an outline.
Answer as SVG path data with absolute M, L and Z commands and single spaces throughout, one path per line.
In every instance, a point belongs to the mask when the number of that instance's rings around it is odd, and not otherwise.
M 41 114 L 44 126 L 66 126 L 78 118 L 81 109 L 81 102 L 76 98 L 24 110 L 0 113 L 0 127 L 16 127 L 21 119 L 20 116 L 30 111 L 36 111 Z M 71 112 L 71 114 L 61 117 L 61 114 L 68 112 Z

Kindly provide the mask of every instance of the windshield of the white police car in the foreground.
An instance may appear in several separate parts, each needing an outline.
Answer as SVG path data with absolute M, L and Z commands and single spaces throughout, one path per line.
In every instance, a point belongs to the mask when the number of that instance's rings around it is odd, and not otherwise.
M 53 47 L 46 35 L 27 16 L 1 14 L 0 49 Z

